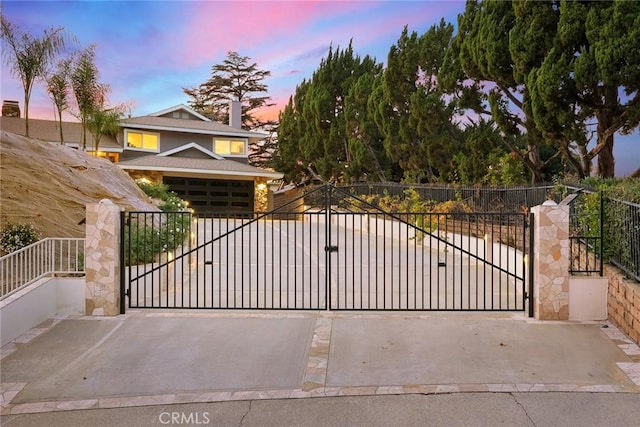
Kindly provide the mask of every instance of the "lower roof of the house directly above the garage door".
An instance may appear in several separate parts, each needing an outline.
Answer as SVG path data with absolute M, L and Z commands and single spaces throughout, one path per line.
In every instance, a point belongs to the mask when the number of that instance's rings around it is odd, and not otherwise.
M 194 159 L 178 156 L 151 154 L 117 163 L 122 169 L 147 170 L 201 175 L 225 175 L 244 177 L 282 178 L 280 172 L 272 172 L 234 160 Z

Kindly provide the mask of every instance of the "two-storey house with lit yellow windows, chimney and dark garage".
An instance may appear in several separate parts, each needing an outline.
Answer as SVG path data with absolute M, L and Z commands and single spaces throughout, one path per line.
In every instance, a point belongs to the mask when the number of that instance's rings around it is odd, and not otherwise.
M 266 137 L 241 128 L 240 103 L 230 106 L 230 124 L 214 122 L 186 105 L 126 118 L 115 137 L 103 136 L 93 153 L 106 157 L 134 179 L 167 184 L 196 213 L 252 212 L 268 208 L 270 180 L 282 174 L 249 164 L 249 144 Z M 3 130 L 24 135 L 24 119 L 2 117 Z M 80 123 L 63 125 L 66 145 L 80 148 Z M 33 138 L 59 142 L 54 120 L 29 119 Z

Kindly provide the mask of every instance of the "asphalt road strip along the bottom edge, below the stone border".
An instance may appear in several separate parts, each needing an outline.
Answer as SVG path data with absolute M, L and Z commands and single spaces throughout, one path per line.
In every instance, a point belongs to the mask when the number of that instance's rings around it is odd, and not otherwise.
M 640 394 L 458 393 L 249 400 L 2 417 L 2 426 L 244 427 L 640 425 Z

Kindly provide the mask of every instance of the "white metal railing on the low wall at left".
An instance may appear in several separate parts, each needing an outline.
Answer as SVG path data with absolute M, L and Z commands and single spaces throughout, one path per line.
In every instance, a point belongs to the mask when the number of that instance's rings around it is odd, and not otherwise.
M 48 237 L 0 258 L 0 300 L 59 274 L 84 274 L 84 239 Z

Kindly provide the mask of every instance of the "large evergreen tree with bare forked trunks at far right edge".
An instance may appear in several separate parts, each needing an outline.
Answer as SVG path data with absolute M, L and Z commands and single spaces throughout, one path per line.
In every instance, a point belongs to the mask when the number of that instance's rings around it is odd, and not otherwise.
M 640 4 L 562 2 L 559 13 L 553 48 L 529 77 L 535 119 L 579 177 L 595 158 L 598 174 L 613 177 L 614 135 L 640 121 Z

